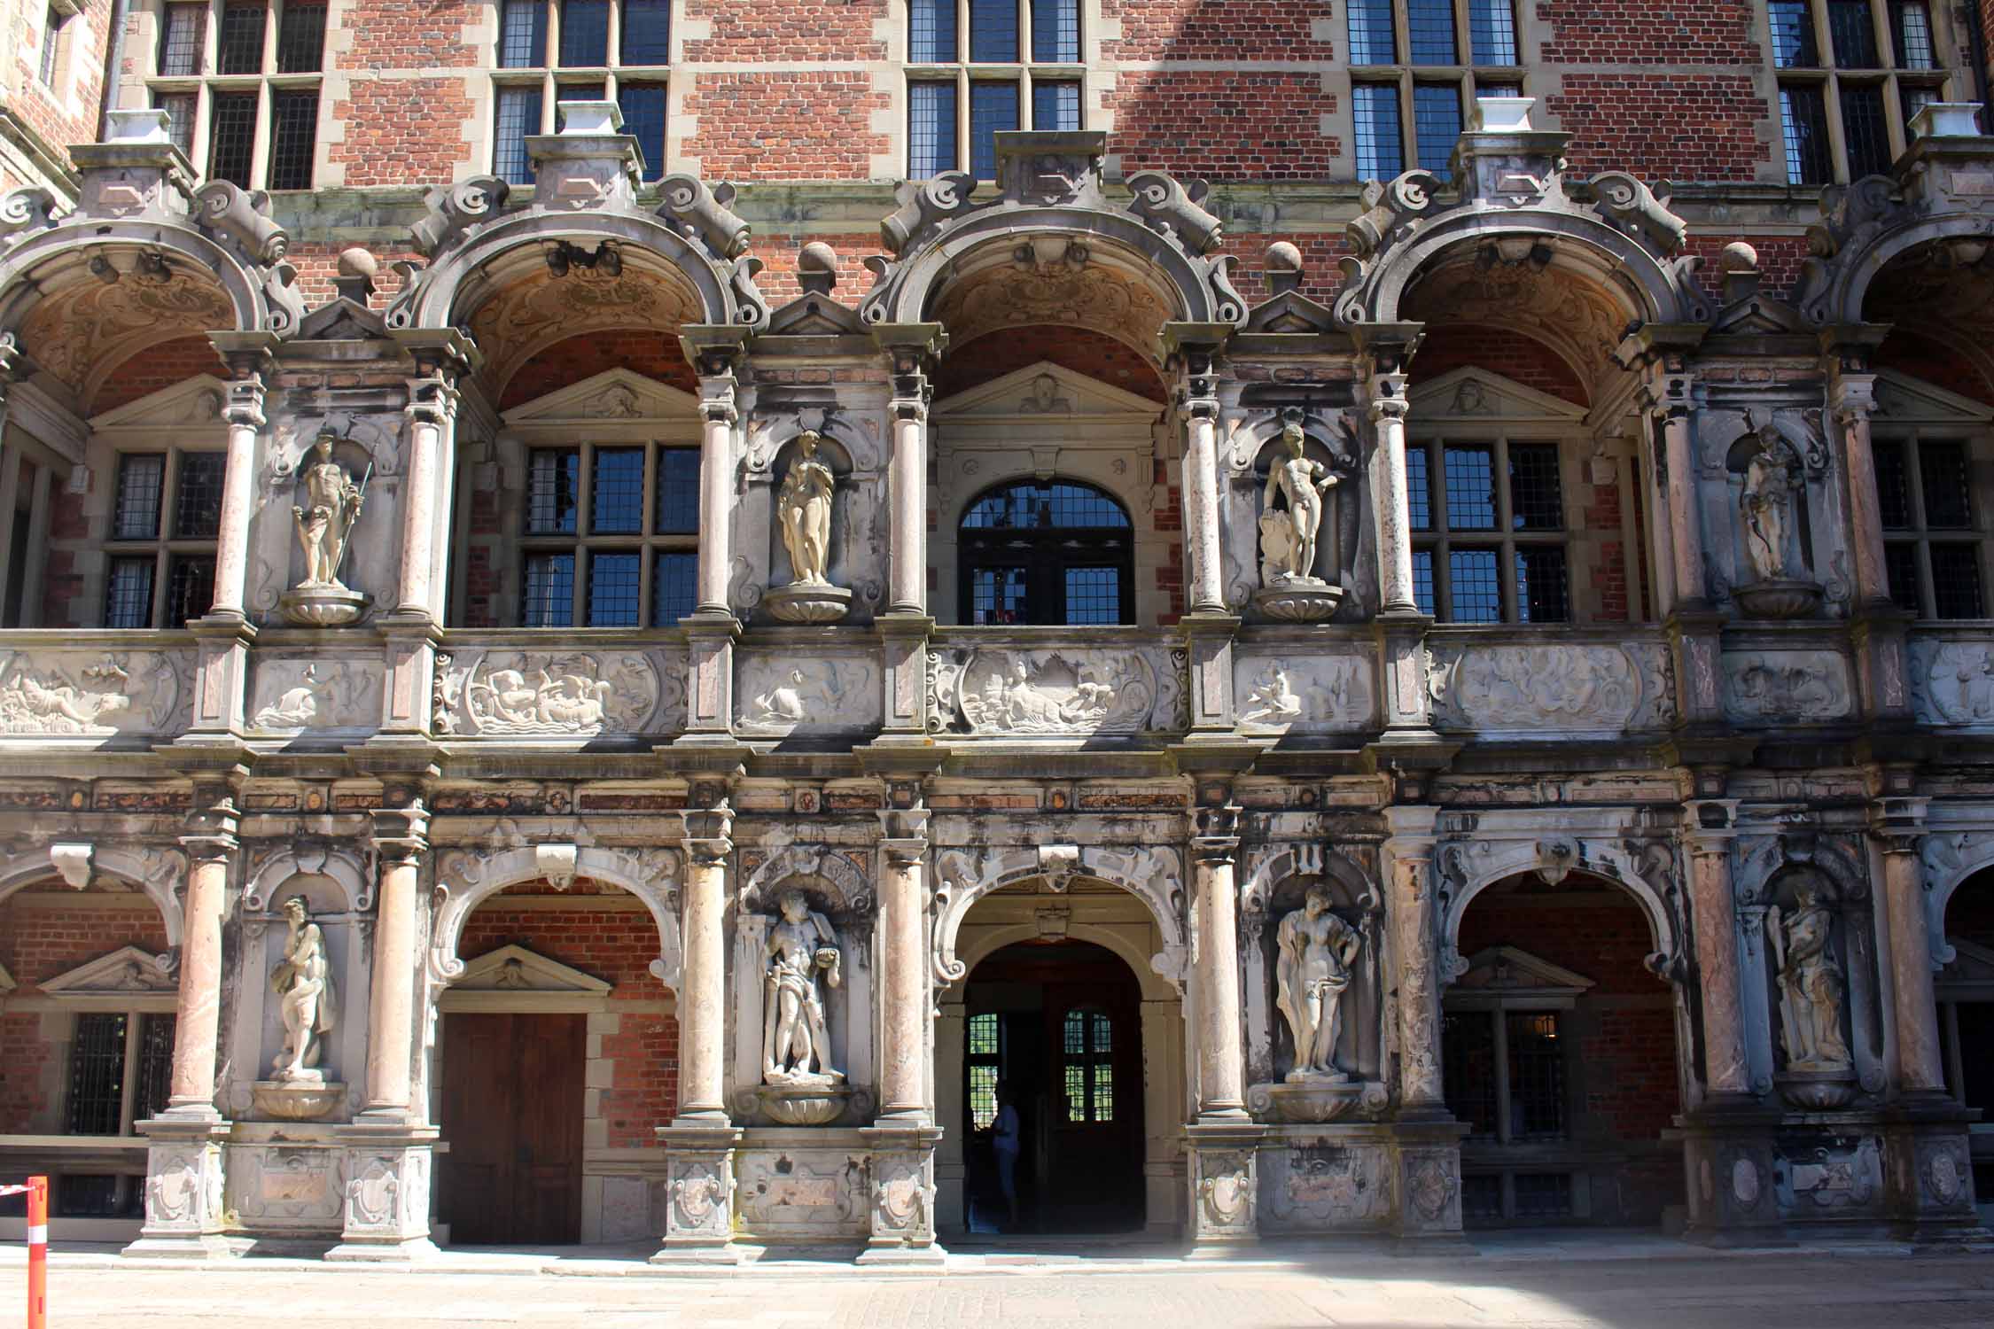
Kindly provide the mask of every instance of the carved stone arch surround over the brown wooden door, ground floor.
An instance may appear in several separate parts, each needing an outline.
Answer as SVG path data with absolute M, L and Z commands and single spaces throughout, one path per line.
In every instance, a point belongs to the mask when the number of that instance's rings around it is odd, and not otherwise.
M 658 958 L 650 974 L 678 992 L 684 950 L 678 936 L 678 891 L 666 885 L 678 875 L 676 853 L 596 849 L 576 845 L 522 845 L 493 855 L 475 849 L 447 851 L 437 867 L 435 923 L 429 944 L 429 978 L 443 986 L 465 972 L 457 942 L 465 923 L 479 905 L 506 887 L 540 881 L 550 869 L 558 875 L 586 877 L 628 891 L 644 903 L 658 925 Z

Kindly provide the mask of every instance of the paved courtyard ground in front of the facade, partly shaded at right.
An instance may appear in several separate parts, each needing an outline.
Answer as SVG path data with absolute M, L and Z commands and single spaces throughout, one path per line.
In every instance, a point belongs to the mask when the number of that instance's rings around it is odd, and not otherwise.
M 50 1325 L 237 1329 L 1294 1329 L 1533 1325 L 1545 1329 L 1986 1329 L 1994 1255 L 1892 1245 L 1711 1255 L 1653 1237 L 1490 1241 L 1480 1257 L 1262 1251 L 1252 1261 L 1127 1251 L 1017 1261 L 953 1255 L 941 1273 L 770 1261 L 660 1275 L 620 1251 L 453 1253 L 447 1269 L 355 1269 L 253 1259 L 136 1267 L 58 1251 Z M 1017 1261 L 1017 1263 L 1013 1263 Z M 0 1251 L 0 1325 L 16 1319 L 18 1245 Z

